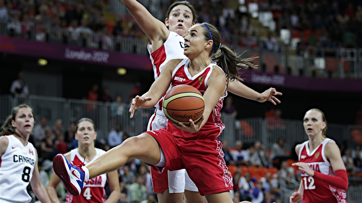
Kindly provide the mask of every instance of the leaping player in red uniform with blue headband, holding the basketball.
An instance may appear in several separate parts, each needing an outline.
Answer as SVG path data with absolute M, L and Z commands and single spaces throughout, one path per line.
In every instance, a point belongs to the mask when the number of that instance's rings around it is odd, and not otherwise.
M 147 131 L 128 138 L 82 168 L 70 164 L 64 155 L 56 155 L 54 171 L 63 177 L 68 191 L 79 195 L 84 181 L 116 170 L 130 158 L 135 158 L 148 163 L 160 174 L 182 168 L 192 171 L 189 176 L 199 193 L 206 196 L 207 202 L 233 202 L 229 192 L 233 186 L 232 177 L 227 173 L 222 144 L 217 139 L 224 129 L 220 109 L 227 95 L 228 80 L 239 79 L 238 69 L 253 64 L 248 59 L 241 60 L 235 52 L 222 46 L 220 40 L 215 26 L 209 23 L 192 26 L 184 45 L 188 59 L 169 61 L 150 90 L 132 100 L 129 110 L 133 117 L 136 109 L 153 107 L 170 84 L 192 85 L 203 93 L 205 99 L 205 111 L 197 124 L 192 120 L 190 126 L 168 121 L 167 129 Z M 211 58 L 218 60 L 221 68 Z M 176 80 L 174 76 L 183 79 Z

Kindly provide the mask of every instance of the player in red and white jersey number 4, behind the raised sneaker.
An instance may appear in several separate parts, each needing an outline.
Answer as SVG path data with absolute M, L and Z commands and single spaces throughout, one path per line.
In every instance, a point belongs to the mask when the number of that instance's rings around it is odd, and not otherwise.
M 105 151 L 94 147 L 94 140 L 97 137 L 94 131 L 94 122 L 89 118 L 81 118 L 77 122 L 75 139 L 78 141 L 78 147 L 67 152 L 64 156 L 76 165 L 83 166 L 92 159 L 102 155 Z M 50 177 L 47 192 L 52 202 L 59 202 L 56 195 L 56 187 L 60 183 L 60 178 L 53 173 Z M 104 186 L 108 181 L 111 194 L 106 199 Z M 117 170 L 101 174 L 87 182 L 80 196 L 74 196 L 68 192 L 66 203 L 103 203 L 117 202 L 121 196 Z

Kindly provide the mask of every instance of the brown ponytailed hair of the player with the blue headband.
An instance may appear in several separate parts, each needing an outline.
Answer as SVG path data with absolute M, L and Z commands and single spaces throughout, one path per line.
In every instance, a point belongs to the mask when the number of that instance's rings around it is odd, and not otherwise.
M 256 57 L 248 58 L 248 59 L 241 59 L 241 55 L 236 55 L 235 51 L 231 50 L 224 44 L 221 45 L 221 36 L 218 29 L 211 25 L 210 23 L 198 23 L 203 28 L 203 35 L 205 36 L 205 40 L 211 40 L 214 42 L 213 49 L 210 52 L 210 57 L 213 61 L 215 61 L 218 66 L 220 66 L 225 74 L 227 83 L 229 83 L 230 79 L 238 79 L 243 81 L 239 77 L 239 69 L 245 69 L 248 67 L 257 68 L 256 65 L 252 64 L 251 61 L 254 60 Z M 210 34 L 209 34 L 210 31 Z

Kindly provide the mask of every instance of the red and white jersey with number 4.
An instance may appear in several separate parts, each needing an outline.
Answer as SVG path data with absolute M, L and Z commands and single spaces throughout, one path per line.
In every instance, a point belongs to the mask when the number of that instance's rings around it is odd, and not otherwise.
M 87 161 L 84 161 L 84 157 L 81 157 L 78 148 L 75 148 L 71 152 L 71 161 L 75 164 L 85 165 Z M 104 150 L 96 148 L 96 156 L 105 153 Z M 83 163 L 84 162 L 84 163 Z M 67 194 L 66 203 L 100 203 L 106 201 L 106 191 L 104 186 L 106 185 L 107 175 L 102 174 L 100 176 L 90 179 L 87 184 L 84 186 L 79 196 L 73 196 L 70 193 Z

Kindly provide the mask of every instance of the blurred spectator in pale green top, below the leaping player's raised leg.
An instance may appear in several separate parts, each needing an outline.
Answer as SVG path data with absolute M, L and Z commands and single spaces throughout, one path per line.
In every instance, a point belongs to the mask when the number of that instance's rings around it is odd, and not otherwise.
M 147 188 L 144 186 L 142 176 L 137 176 L 136 182 L 128 187 L 127 196 L 130 202 L 141 202 L 147 199 Z

